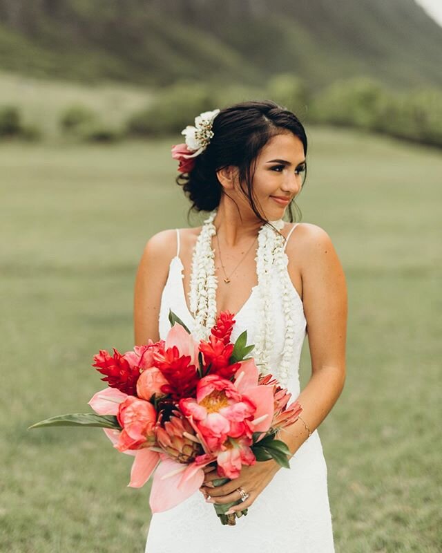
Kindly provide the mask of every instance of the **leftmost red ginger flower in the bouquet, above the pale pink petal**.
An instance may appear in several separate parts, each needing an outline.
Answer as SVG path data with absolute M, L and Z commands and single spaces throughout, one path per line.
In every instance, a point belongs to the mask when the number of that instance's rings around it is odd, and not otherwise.
M 137 395 L 137 380 L 140 377 L 140 367 L 133 364 L 132 359 L 127 359 L 125 355 L 119 353 L 113 348 L 113 357 L 107 350 L 99 350 L 94 355 L 93 360 L 97 371 L 106 375 L 102 378 L 111 388 L 118 388 L 128 395 Z

